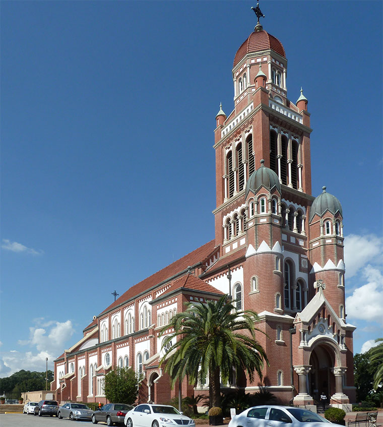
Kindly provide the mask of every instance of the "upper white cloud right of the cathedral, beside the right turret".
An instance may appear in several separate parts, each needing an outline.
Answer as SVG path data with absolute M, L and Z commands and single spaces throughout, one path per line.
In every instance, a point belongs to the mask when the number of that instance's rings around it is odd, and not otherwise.
M 383 238 L 375 234 L 349 234 L 344 239 L 346 277 L 353 277 L 367 263 L 381 262 Z

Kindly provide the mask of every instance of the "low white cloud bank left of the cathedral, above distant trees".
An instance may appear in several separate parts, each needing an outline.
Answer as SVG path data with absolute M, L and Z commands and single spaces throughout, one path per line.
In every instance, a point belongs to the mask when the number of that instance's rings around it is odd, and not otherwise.
M 48 327 L 41 328 L 41 324 L 48 325 Z M 53 360 L 62 353 L 74 332 L 70 320 L 44 322 L 43 318 L 35 319 L 34 326 L 29 328 L 29 339 L 18 341 L 19 345 L 29 345 L 32 350 L 26 352 L 2 351 L 2 359 L 0 359 L 2 376 L 12 375 L 20 369 L 45 371 L 46 357 L 48 357 L 48 369 L 53 369 Z

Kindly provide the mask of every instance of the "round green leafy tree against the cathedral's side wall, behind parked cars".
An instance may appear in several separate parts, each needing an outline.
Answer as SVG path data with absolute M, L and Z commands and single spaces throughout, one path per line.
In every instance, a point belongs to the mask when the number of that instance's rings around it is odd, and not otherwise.
M 133 405 L 138 396 L 139 380 L 132 368 L 114 368 L 105 375 L 106 399 Z

